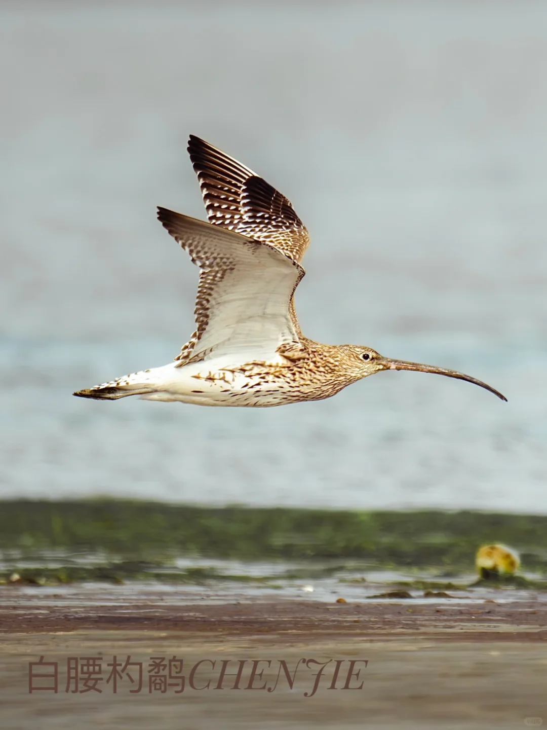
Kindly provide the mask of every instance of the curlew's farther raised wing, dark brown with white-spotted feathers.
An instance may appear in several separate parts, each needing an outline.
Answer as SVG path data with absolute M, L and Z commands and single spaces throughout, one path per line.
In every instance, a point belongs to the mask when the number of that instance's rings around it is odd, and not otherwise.
M 301 261 L 309 233 L 290 201 L 237 160 L 190 135 L 188 152 L 198 175 L 209 223 L 276 247 Z

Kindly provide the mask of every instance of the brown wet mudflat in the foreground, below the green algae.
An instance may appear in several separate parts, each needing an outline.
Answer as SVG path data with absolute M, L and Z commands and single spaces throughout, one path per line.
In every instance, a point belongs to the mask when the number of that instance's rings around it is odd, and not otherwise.
M 82 728 L 490 728 L 547 719 L 541 593 L 411 595 L 344 604 L 334 594 L 303 600 L 222 584 L 5 586 L 2 726 L 68 729 L 77 718 Z M 90 660 L 100 692 L 86 689 Z

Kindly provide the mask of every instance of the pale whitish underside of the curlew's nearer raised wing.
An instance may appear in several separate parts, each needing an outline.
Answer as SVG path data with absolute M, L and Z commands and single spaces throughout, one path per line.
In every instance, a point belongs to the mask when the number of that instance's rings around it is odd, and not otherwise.
M 249 352 L 272 358 L 299 344 L 290 301 L 304 270 L 273 245 L 158 208 L 163 227 L 200 268 L 196 331 L 181 364 Z

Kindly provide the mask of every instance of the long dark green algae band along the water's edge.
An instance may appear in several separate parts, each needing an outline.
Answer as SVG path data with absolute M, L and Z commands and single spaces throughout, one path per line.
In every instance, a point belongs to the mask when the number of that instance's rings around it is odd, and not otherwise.
M 10 552 L 36 556 L 58 550 L 165 566 L 178 556 L 338 561 L 336 569 L 318 568 L 323 575 L 358 560 L 454 575 L 474 571 L 476 550 L 488 542 L 511 545 L 521 553 L 525 570 L 546 572 L 547 517 L 538 515 L 199 507 L 114 499 L 0 502 L 4 558 Z M 151 571 L 149 566 L 146 572 Z

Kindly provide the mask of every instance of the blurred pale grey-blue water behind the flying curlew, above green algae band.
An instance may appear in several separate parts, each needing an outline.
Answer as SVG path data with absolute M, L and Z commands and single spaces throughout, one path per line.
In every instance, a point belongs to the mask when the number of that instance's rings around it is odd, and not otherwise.
M 0 496 L 547 512 L 547 4 L 2 2 Z M 71 396 L 166 364 L 189 133 L 286 194 L 324 342 L 462 369 L 274 409 Z

